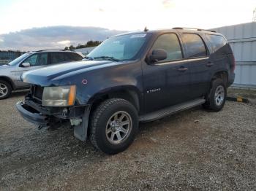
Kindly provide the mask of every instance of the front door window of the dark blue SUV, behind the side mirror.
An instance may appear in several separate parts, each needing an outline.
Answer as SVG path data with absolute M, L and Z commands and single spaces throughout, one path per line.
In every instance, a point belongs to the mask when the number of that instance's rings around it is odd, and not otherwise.
M 162 34 L 158 37 L 151 50 L 162 49 L 167 52 L 166 61 L 176 61 L 182 59 L 181 45 L 176 34 Z M 162 61 L 161 61 L 162 62 Z

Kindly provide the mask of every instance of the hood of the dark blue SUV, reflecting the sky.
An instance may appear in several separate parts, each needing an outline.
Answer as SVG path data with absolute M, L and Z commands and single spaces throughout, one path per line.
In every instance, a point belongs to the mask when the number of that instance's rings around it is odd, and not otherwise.
M 99 69 L 105 65 L 114 65 L 111 61 L 78 61 L 46 66 L 41 69 L 28 71 L 21 77 L 23 82 L 41 86 L 57 86 L 61 79 L 75 76 L 92 69 Z

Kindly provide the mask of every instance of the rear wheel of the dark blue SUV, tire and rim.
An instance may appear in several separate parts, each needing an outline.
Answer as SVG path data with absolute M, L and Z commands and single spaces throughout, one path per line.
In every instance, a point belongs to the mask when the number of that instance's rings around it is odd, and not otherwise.
M 206 95 L 206 103 L 203 104 L 205 109 L 213 112 L 219 112 L 225 105 L 227 96 L 227 87 L 222 79 L 214 79 L 211 82 L 211 90 Z

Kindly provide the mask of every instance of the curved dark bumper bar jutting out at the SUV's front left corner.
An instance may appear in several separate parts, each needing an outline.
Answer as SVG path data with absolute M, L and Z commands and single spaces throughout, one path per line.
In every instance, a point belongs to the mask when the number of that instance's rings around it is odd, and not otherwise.
M 31 123 L 42 126 L 47 126 L 49 123 L 48 116 L 42 115 L 41 113 L 37 112 L 37 110 L 31 108 L 31 106 L 28 106 L 21 101 L 16 104 L 16 108 L 18 109 L 18 112 L 20 112 L 20 115 Z

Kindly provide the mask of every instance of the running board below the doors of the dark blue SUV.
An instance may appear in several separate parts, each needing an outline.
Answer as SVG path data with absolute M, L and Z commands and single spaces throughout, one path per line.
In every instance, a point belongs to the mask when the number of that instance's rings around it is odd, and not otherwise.
M 160 119 L 162 117 L 166 117 L 170 114 L 175 114 L 176 112 L 181 112 L 181 111 L 184 111 L 186 109 L 202 105 L 205 102 L 206 102 L 206 100 L 203 99 L 203 98 L 198 98 L 198 99 L 195 99 L 195 100 L 192 100 L 192 101 L 187 101 L 187 102 L 184 102 L 182 104 L 177 104 L 177 105 L 174 105 L 174 106 L 167 107 L 165 109 L 160 109 L 157 112 L 151 112 L 149 114 L 145 114 L 143 116 L 140 116 L 139 121 L 140 122 L 150 122 L 150 121 L 153 121 L 153 120 L 158 120 L 158 119 Z

